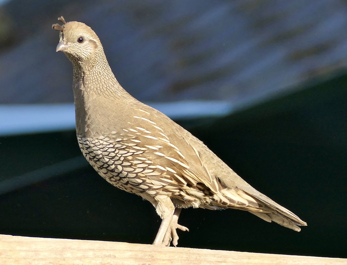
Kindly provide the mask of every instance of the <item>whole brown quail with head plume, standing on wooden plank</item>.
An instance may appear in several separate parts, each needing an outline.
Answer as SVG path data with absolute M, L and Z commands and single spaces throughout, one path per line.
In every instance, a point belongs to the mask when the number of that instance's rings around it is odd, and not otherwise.
M 182 208 L 240 209 L 295 231 L 306 223 L 258 192 L 206 145 L 118 83 L 98 36 L 87 25 L 54 24 L 57 51 L 74 67 L 79 147 L 109 183 L 153 204 L 162 219 L 153 244 L 177 245 Z

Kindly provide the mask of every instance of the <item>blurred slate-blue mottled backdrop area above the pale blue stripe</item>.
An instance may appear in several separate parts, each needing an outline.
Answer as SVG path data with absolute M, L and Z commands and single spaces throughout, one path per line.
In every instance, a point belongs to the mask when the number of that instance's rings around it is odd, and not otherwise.
M 71 65 L 51 29 L 60 15 L 95 30 L 116 78 L 141 101 L 257 104 L 347 64 L 347 3 L 338 0 L 12 0 L 0 12 L 2 104 L 73 101 Z

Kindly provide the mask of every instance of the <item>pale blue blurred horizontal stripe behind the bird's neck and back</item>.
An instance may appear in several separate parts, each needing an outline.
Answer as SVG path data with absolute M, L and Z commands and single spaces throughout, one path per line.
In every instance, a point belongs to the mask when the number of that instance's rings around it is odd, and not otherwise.
M 179 101 L 149 104 L 172 119 L 224 116 L 227 101 Z M 74 104 L 0 105 L 0 135 L 62 131 L 75 128 Z

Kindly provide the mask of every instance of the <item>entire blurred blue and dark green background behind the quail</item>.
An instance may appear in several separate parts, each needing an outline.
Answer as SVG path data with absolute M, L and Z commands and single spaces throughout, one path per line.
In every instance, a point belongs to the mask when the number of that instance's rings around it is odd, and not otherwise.
M 79 151 L 57 18 L 98 34 L 120 84 L 308 223 L 182 211 L 179 246 L 347 258 L 347 1 L 0 1 L 0 233 L 150 244 L 150 203 Z

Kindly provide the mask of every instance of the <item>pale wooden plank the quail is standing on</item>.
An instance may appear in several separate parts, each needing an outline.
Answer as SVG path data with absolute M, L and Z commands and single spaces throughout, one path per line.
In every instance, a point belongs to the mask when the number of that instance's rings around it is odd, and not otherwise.
M 347 259 L 0 235 L 0 264 L 347 264 Z

